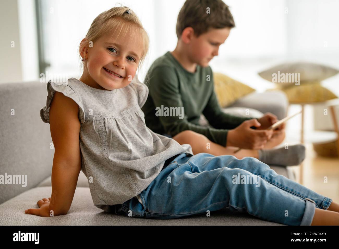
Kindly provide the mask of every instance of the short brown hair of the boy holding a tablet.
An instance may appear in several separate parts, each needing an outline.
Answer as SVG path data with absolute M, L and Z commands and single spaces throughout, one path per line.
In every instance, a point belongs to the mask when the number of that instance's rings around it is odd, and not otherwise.
M 233 16 L 222 0 L 186 0 L 177 20 L 177 37 L 186 27 L 192 27 L 196 37 L 210 28 L 235 27 Z

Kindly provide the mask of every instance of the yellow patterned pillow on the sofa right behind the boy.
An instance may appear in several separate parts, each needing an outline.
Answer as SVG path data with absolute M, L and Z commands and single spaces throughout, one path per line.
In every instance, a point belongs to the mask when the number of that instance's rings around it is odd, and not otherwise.
M 213 73 L 214 90 L 219 105 L 224 108 L 233 104 L 238 98 L 245 96 L 255 89 L 240 83 L 222 73 Z

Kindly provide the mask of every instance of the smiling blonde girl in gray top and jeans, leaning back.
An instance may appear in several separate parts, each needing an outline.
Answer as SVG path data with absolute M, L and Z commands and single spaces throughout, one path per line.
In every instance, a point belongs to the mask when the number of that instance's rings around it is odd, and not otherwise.
M 173 219 L 229 206 L 286 225 L 339 224 L 332 199 L 258 159 L 192 155 L 189 144 L 148 129 L 140 109 L 148 88 L 135 78 L 147 50 L 147 33 L 131 9 L 95 18 L 80 43 L 80 79 L 47 83 L 40 115 L 55 147 L 52 195 L 25 213 L 66 214 L 81 169 L 94 205 L 116 214 Z

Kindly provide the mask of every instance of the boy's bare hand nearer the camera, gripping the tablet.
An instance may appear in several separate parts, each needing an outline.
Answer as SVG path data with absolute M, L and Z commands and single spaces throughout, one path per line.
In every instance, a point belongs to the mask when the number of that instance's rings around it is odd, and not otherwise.
M 255 118 L 242 122 L 237 128 L 228 131 L 226 146 L 235 146 L 242 149 L 259 150 L 273 135 L 272 130 L 255 130 L 252 126 L 260 127 Z

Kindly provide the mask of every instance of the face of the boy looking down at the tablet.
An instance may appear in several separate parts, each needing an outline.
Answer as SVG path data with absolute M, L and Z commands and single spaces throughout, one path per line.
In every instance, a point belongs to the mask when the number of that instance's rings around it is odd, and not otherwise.
M 218 55 L 219 46 L 223 44 L 231 28 L 211 28 L 199 37 L 192 36 L 189 47 L 189 55 L 192 62 L 202 67 L 207 67 L 214 56 Z

